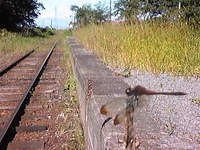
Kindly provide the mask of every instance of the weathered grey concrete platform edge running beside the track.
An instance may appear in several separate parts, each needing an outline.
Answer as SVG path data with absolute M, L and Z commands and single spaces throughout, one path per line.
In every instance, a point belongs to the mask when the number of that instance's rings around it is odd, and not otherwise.
M 126 98 L 125 89 L 128 85 L 121 77 L 114 76 L 101 60 L 82 45 L 68 38 L 74 75 L 77 83 L 77 93 L 80 101 L 81 120 L 84 128 L 86 149 L 123 149 L 123 125 L 113 129 L 109 122 L 100 132 L 106 116 L 100 114 L 100 108 L 110 100 Z M 92 82 L 91 95 L 88 99 L 88 82 Z

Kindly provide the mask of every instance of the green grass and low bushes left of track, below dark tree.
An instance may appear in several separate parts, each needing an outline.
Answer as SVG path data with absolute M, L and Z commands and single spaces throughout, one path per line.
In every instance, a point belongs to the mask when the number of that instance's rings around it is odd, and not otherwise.
M 12 33 L 6 30 L 0 30 L 0 54 L 37 49 L 49 37 L 52 37 L 54 32 L 54 30 L 49 28 L 31 28 L 23 33 Z

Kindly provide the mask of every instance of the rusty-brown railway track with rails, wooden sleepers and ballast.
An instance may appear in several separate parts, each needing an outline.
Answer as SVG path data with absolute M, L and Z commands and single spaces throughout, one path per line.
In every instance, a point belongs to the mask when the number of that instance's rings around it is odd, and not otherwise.
M 44 149 L 60 54 L 29 52 L 0 72 L 0 149 Z M 46 137 L 44 135 L 47 135 Z

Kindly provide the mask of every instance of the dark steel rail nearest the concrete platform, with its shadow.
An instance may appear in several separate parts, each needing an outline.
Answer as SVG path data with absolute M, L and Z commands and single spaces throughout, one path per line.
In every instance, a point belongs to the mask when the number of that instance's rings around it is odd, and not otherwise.
M 51 48 L 51 50 L 49 51 L 48 55 L 46 56 L 45 60 L 43 61 L 41 67 L 39 68 L 36 76 L 34 77 L 34 79 L 32 80 L 32 82 L 30 83 L 28 89 L 26 90 L 24 96 L 22 97 L 22 99 L 20 100 L 18 106 L 16 107 L 16 109 L 14 110 L 14 112 L 12 113 L 12 116 L 10 117 L 9 121 L 7 122 L 6 126 L 4 129 L 2 129 L 2 131 L 0 132 L 0 149 L 5 149 L 8 142 L 10 142 L 9 136 L 13 136 L 13 134 L 16 133 L 16 129 L 15 127 L 19 124 L 19 120 L 21 118 L 21 116 L 24 113 L 24 109 L 26 107 L 26 104 L 28 104 L 28 100 L 31 97 L 31 93 L 34 91 L 35 86 L 38 84 L 39 82 L 39 78 L 42 75 L 43 70 L 45 69 L 45 66 L 57 44 L 58 40 L 54 43 L 53 47 Z

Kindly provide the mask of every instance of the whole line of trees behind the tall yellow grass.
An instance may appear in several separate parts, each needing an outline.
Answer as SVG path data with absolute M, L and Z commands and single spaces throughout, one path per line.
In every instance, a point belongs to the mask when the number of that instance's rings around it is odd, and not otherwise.
M 109 21 L 109 6 L 98 3 L 95 8 L 91 5 L 78 7 L 71 6 L 75 12 L 76 23 L 87 25 L 89 23 L 102 23 Z M 200 25 L 199 0 L 117 0 L 114 2 L 112 15 L 122 21 L 134 23 L 140 20 L 155 20 L 162 18 L 164 21 L 183 20 L 186 23 Z

